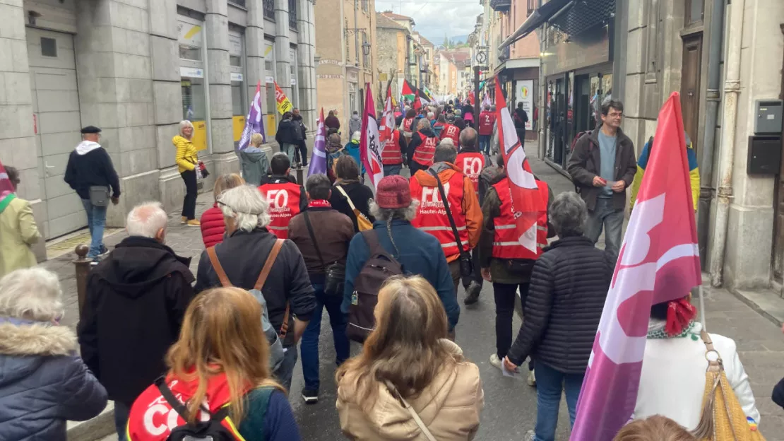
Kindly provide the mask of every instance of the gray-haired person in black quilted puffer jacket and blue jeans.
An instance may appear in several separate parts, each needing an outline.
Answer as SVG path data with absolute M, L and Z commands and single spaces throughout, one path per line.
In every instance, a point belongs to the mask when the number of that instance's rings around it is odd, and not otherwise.
M 565 389 L 569 419 L 575 409 L 612 279 L 612 261 L 583 236 L 586 205 L 570 191 L 550 206 L 558 240 L 534 265 L 523 325 L 504 359 L 515 369 L 529 355 L 536 362 L 536 439 L 554 439 Z

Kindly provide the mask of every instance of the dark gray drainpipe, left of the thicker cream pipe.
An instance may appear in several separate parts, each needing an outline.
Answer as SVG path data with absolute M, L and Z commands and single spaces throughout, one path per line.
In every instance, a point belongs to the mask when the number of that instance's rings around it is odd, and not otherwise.
M 702 268 L 708 250 L 710 228 L 710 199 L 715 195 L 713 188 L 713 151 L 716 148 L 716 122 L 719 115 L 721 94 L 721 42 L 724 40 L 724 4 L 726 0 L 714 0 L 710 15 L 710 47 L 708 48 L 708 89 L 706 90 L 705 133 L 702 136 L 702 158 L 699 163 L 699 204 L 697 211 L 697 233 L 699 256 Z

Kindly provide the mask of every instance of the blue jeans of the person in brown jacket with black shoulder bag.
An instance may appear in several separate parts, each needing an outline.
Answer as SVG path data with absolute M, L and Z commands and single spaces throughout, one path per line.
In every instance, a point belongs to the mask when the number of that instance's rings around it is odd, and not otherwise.
M 310 322 L 302 334 L 299 351 L 302 352 L 302 374 L 305 377 L 305 388 L 318 391 L 318 337 L 321 335 L 321 314 L 327 308 L 329 325 L 332 326 L 332 340 L 335 342 L 336 365 L 340 366 L 349 356 L 350 344 L 346 337 L 346 315 L 340 311 L 343 297 L 327 296 L 324 285 L 314 283 L 316 291 L 316 308 L 310 316 Z

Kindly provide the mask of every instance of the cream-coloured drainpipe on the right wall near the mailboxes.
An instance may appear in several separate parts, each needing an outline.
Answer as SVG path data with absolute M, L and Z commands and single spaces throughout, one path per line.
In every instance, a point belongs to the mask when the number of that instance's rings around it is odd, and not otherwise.
M 732 167 L 735 165 L 735 133 L 738 130 L 738 97 L 740 95 L 740 46 L 743 34 L 743 10 L 746 0 L 735 0 L 730 6 L 727 40 L 727 66 L 724 75 L 724 112 L 721 118 L 719 151 L 719 188 L 716 195 L 716 221 L 710 246 L 710 284 L 724 282 L 724 252 L 727 249 L 727 228 L 732 195 Z

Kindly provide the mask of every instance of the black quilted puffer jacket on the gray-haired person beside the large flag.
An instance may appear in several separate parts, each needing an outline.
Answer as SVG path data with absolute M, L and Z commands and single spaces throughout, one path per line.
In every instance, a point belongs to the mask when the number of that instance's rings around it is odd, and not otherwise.
M 612 263 L 584 236 L 553 242 L 534 264 L 523 325 L 508 357 L 528 355 L 566 374 L 583 374 L 612 279 Z

